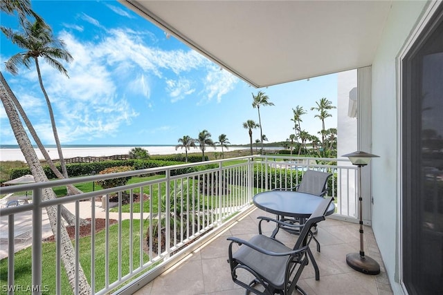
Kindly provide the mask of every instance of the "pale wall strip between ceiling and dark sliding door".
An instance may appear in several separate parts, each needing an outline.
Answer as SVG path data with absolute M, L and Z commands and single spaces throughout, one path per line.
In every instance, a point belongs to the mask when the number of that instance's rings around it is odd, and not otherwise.
M 372 63 L 372 229 L 395 294 L 399 285 L 399 102 L 397 56 L 426 6 L 393 1 Z

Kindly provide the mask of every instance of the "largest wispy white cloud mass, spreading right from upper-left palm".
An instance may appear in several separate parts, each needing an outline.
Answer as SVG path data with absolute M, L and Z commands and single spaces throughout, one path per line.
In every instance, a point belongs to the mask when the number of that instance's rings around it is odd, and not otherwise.
M 83 14 L 81 18 L 102 28 L 100 22 L 89 15 Z M 64 26 L 78 31 L 83 28 Z M 114 137 L 124 124 L 134 124 L 143 107 L 154 109 L 155 102 L 140 104 L 141 99 L 147 101 L 153 96 L 153 83 L 161 85 L 157 87 L 165 89 L 170 102 L 174 103 L 195 93 L 204 93 L 207 101 L 217 97 L 220 102 L 237 82 L 233 75 L 220 71 L 193 50 L 163 50 L 152 46 L 156 38 L 151 32 L 102 29 L 105 37 L 88 42 L 80 41 L 70 32 L 60 32 L 60 38 L 73 56 L 71 63 L 63 63 L 69 79 L 43 59 L 39 60 L 62 144 Z M 204 80 L 203 86 L 198 84 L 199 80 Z M 53 143 L 46 103 L 37 81 L 33 66 L 31 70 L 21 69 L 20 77 L 8 82 L 15 86 L 19 99 L 23 99 L 20 101 L 33 117 L 42 141 Z M 0 117 L 3 119 L 3 112 Z M 170 126 L 153 128 L 146 132 L 171 130 Z

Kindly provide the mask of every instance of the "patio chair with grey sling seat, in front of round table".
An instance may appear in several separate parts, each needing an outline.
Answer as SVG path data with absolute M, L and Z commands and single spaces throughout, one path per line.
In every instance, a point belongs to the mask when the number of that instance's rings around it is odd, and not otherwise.
M 305 225 L 291 225 L 300 228 L 300 235 L 293 248 L 283 245 L 282 242 L 264 236 L 262 234 L 261 224 L 263 220 L 282 224 L 280 220 L 272 218 L 259 217 L 259 234 L 250 240 L 230 237 L 228 248 L 228 263 L 230 265 L 230 274 L 233 281 L 248 292 L 255 294 L 292 294 L 297 289 L 302 294 L 306 292 L 297 285 L 298 279 L 302 274 L 305 265 L 309 260 L 309 242 L 313 234 L 311 229 L 320 221 L 325 220 L 325 214 L 332 198 L 325 198 L 321 202 L 311 217 L 305 222 Z M 233 251 L 233 245 L 238 244 L 237 251 Z M 242 272 L 246 271 L 254 277 L 251 282 L 245 282 L 246 278 Z M 247 280 L 247 279 L 246 279 Z M 264 291 L 255 289 L 257 285 L 262 285 Z

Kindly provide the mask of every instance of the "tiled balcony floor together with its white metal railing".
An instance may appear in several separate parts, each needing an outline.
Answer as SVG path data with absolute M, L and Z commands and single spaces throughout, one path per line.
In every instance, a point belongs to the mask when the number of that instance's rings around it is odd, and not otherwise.
M 265 213 L 253 206 L 255 193 L 293 187 L 300 181 L 302 171 L 316 169 L 334 174 L 328 183 L 328 195 L 336 199 L 336 213 L 320 222 L 318 240 L 323 247 L 321 253 L 313 250 L 320 280 L 314 279 L 314 271 L 308 265 L 300 285 L 309 294 L 392 294 L 370 227 L 365 227 L 365 251 L 379 261 L 381 274 L 366 276 L 345 263 L 346 254 L 359 249 L 354 166 L 336 159 L 280 156 L 235 160 L 237 164 L 226 165 L 228 160 L 217 160 L 1 188 L 1 193 L 33 191 L 30 204 L 0 211 L 1 232 L 7 232 L 7 239 L 15 241 L 8 243 L 7 249 L 4 243 L 1 245 L 1 258 L 8 257 L 1 261 L 2 269 L 8 267 L 7 275 L 2 271 L 1 285 L 12 286 L 3 287 L 2 292 L 18 293 L 26 286 L 47 289 L 51 294 L 69 292 L 61 262 L 66 251 L 62 247 L 64 227 L 59 222 L 64 205 L 75 215 L 70 256 L 75 294 L 81 294 L 78 285 L 82 272 L 93 294 L 132 294 L 140 286 L 144 287 L 138 294 L 243 293 L 230 278 L 226 237 L 248 238 L 256 233 L 255 217 Z M 145 180 L 123 187 L 54 200 L 46 200 L 44 194 L 46 188 L 138 175 Z M 134 202 L 132 196 L 137 194 L 146 198 Z M 105 210 L 111 207 L 110 197 L 117 200 L 116 207 Z M 129 202 L 124 204 L 127 198 Z M 88 237 L 80 237 L 81 218 L 91 218 Z M 103 231 L 96 232 L 96 218 L 104 220 Z M 32 241 L 17 240 L 17 234 L 26 231 Z M 55 242 L 42 242 L 53 231 L 60 233 Z M 294 238 L 278 235 L 283 241 Z M 30 259 L 24 262 L 24 252 L 17 251 L 29 245 L 32 254 L 28 249 Z M 48 259 L 55 261 L 54 274 L 49 276 L 45 267 L 50 263 Z M 32 269 L 27 280 L 23 269 Z

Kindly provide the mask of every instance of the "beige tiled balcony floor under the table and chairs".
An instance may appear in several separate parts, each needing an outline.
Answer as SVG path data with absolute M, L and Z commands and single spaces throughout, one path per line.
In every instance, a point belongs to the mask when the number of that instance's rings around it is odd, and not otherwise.
M 244 294 L 244 289 L 230 278 L 227 263 L 229 242 L 226 238 L 237 236 L 248 240 L 257 234 L 257 216 L 266 215 L 271 216 L 255 209 L 135 294 Z M 270 232 L 271 224 L 266 226 Z M 365 227 L 364 233 L 365 254 L 380 264 L 379 275 L 361 274 L 346 264 L 346 254 L 359 251 L 359 225 L 327 218 L 318 224 L 320 253 L 315 249 L 316 243 L 311 242 L 312 253 L 320 269 L 320 280 L 315 280 L 314 269 L 309 263 L 298 285 L 313 295 L 392 294 L 372 229 Z M 293 245 L 293 242 L 290 243 L 296 236 L 280 231 L 277 238 Z

